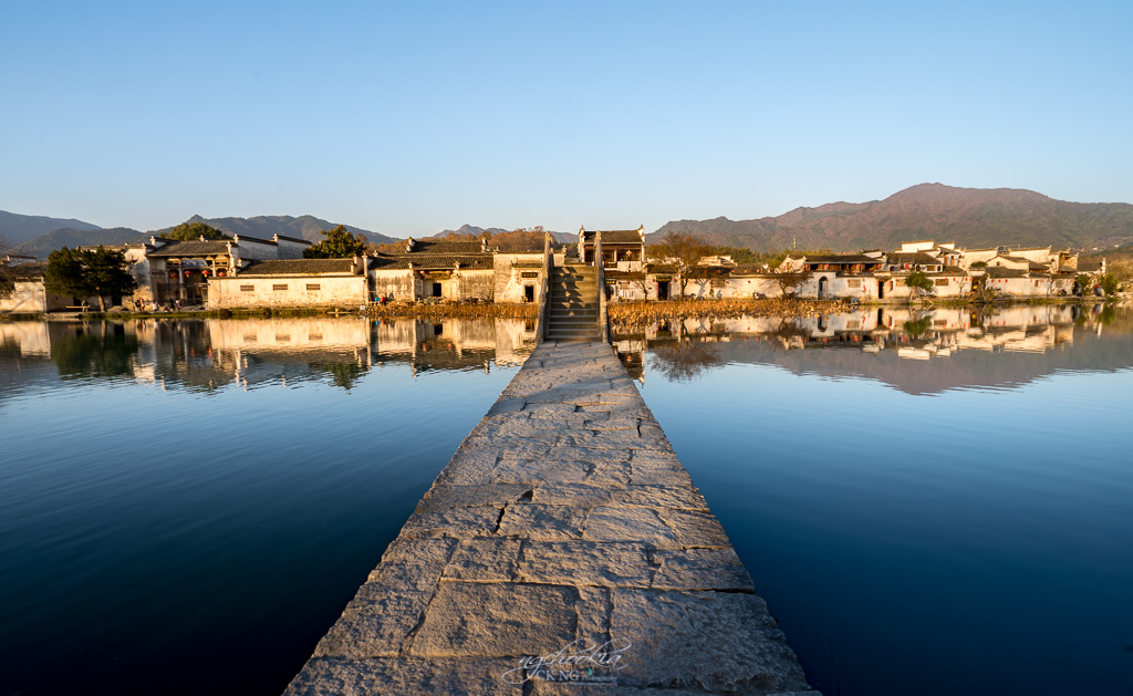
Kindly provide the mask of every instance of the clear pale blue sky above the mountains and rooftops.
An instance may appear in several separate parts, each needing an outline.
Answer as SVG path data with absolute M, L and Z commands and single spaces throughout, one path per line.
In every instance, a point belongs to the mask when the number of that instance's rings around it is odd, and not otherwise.
M 391 236 L 1133 202 L 1133 2 L 3 2 L 0 210 Z

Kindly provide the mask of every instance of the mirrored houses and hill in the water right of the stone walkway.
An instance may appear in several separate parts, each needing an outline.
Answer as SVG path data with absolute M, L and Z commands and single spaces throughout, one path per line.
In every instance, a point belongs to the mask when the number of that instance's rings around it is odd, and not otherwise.
M 1076 323 L 1075 311 L 1084 312 Z M 777 365 L 800 375 L 877 380 L 913 394 L 1013 388 L 1060 371 L 1133 367 L 1130 307 L 1108 317 L 1083 307 L 1008 307 L 974 317 L 966 309 L 938 311 L 927 315 L 930 328 L 918 337 L 902 330 L 909 321 L 902 311 L 895 316 L 887 312 L 880 321 L 875 312 L 864 312 L 789 322 L 727 320 L 707 326 L 684 322 L 656 338 L 649 338 L 655 331 L 646 332 L 647 364 L 670 379 L 696 376 L 699 370 L 725 362 Z M 1038 316 L 1058 323 L 1036 322 Z M 847 324 L 853 329 L 845 329 Z M 682 341 L 700 346 L 674 348 Z M 624 341 L 627 349 L 631 343 Z M 691 373 L 690 365 L 696 368 Z

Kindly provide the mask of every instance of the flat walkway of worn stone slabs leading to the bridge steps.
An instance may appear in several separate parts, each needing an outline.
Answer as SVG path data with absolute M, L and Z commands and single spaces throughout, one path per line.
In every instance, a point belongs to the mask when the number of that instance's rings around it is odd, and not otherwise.
M 547 342 L 287 689 L 817 694 L 608 345 Z

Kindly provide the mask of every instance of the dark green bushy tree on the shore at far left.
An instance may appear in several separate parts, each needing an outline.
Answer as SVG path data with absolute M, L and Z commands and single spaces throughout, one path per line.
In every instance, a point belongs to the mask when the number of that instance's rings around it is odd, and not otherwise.
M 121 252 L 62 247 L 48 256 L 44 287 L 63 297 L 99 298 L 99 309 L 107 311 L 108 296 L 126 295 L 137 287 L 129 271 L 130 262 Z

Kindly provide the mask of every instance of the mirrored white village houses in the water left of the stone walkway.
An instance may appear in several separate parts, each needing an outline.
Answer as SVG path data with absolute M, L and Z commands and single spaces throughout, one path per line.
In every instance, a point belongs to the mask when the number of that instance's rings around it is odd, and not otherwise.
M 211 392 L 318 381 L 350 389 L 374 366 L 418 372 L 521 363 L 534 324 L 517 320 L 131 320 L 0 324 L 0 398 L 59 379 L 119 379 Z

